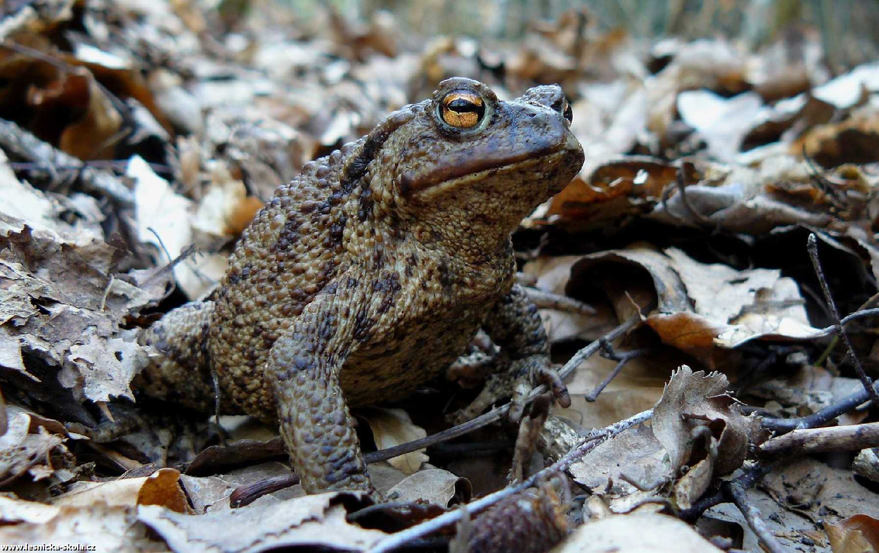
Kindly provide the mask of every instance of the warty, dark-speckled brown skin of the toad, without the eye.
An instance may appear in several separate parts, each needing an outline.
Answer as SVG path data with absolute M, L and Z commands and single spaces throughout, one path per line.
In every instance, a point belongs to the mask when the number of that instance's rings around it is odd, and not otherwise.
M 455 91 L 482 98 L 474 127 L 443 120 Z M 374 492 L 348 408 L 410 394 L 480 327 L 504 348 L 517 396 L 551 381 L 563 397 L 540 317 L 513 284 L 510 233 L 583 164 L 569 126 L 557 86 L 501 102 L 462 78 L 391 113 L 278 189 L 208 301 L 144 332 L 164 356 L 142 385 L 210 411 L 214 371 L 223 411 L 280 419 L 309 492 Z

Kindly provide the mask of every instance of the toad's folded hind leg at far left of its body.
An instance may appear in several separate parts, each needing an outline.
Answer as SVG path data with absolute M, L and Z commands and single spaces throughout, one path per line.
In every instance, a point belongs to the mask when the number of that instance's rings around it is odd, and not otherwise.
M 207 334 L 214 302 L 189 302 L 172 309 L 143 331 L 138 341 L 159 353 L 134 385 L 150 397 L 199 411 L 214 411 L 214 384 L 207 355 Z

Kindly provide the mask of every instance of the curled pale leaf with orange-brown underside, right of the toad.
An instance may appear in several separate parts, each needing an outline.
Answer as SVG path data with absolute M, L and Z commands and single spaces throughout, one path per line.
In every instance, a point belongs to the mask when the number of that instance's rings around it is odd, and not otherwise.
M 631 271 L 635 266 L 640 271 Z M 612 277 L 602 276 L 613 273 Z M 657 309 L 647 324 L 669 345 L 712 366 L 717 347 L 733 348 L 752 339 L 813 338 L 821 331 L 810 326 L 803 297 L 794 280 L 776 269 L 737 271 L 721 264 L 704 264 L 677 248 L 657 251 L 649 244 L 602 251 L 571 266 L 565 291 L 643 288 L 646 272 L 657 297 Z M 622 278 L 621 278 L 621 275 Z

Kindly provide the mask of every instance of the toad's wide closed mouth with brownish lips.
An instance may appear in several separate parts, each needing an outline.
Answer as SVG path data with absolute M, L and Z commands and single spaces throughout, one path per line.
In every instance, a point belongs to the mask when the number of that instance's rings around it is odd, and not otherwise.
M 426 167 L 416 174 L 406 171 L 401 175 L 400 193 L 405 196 L 422 196 L 424 193 L 439 192 L 450 186 L 457 186 L 458 181 L 483 180 L 489 178 L 491 172 L 507 173 L 513 171 L 536 171 L 537 168 L 548 167 L 558 169 L 556 179 L 558 189 L 567 186 L 571 178 L 580 171 L 584 162 L 583 148 L 577 138 L 570 132 L 565 141 L 547 141 L 540 147 L 528 149 L 519 154 L 498 156 L 480 156 L 481 148 L 461 152 L 452 159 L 447 159 L 441 167 Z M 532 144 L 534 145 L 534 144 Z M 553 193 L 558 190 L 553 191 Z

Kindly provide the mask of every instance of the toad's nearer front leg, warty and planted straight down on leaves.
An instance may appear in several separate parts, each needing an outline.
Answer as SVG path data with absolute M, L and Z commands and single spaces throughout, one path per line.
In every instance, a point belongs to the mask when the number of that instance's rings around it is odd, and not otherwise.
M 377 497 L 339 371 L 352 352 L 351 322 L 339 317 L 339 298 L 323 295 L 278 338 L 265 376 L 278 405 L 280 434 L 302 488 L 367 491 Z

